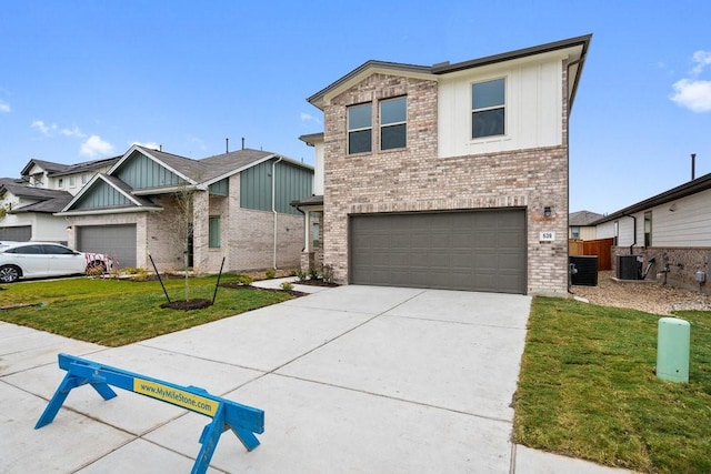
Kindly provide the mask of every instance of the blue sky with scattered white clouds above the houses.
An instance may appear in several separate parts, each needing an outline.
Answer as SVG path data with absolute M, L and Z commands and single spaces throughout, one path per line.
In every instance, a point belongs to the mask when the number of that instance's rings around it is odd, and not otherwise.
M 571 211 L 711 172 L 711 2 L 0 0 L 0 177 L 161 144 L 312 162 L 306 101 L 370 59 L 431 65 L 592 33 L 571 117 Z

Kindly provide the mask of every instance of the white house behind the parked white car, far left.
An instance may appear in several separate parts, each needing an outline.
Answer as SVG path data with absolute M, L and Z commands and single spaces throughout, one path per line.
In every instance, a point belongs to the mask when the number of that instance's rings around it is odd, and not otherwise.
M 118 158 L 61 164 L 32 159 L 21 179 L 0 180 L 0 240 L 67 243 L 67 220 L 53 215 Z

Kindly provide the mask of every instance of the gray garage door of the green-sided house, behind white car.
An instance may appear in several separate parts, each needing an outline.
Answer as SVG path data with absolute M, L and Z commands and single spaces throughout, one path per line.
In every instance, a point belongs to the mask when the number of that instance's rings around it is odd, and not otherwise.
M 79 228 L 78 250 L 118 258 L 119 266 L 136 266 L 136 225 Z

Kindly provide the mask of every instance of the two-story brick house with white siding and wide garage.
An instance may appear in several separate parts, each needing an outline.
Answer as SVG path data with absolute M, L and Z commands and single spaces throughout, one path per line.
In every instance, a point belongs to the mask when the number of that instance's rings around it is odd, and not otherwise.
M 322 205 L 334 280 L 567 294 L 568 123 L 590 39 L 368 61 L 310 97 L 324 132 L 302 140 L 317 169 L 323 153 L 323 195 L 294 205 Z

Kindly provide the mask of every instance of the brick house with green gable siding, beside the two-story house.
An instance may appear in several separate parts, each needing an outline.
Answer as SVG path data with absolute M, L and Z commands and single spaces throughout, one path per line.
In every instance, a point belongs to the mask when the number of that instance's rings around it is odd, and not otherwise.
M 311 167 L 266 151 L 192 160 L 132 145 L 59 215 L 70 246 L 122 268 L 150 269 L 150 255 L 160 271 L 180 270 L 186 241 L 198 273 L 217 273 L 223 258 L 224 271 L 297 266 L 303 218 L 289 202 L 311 195 L 312 181 Z

